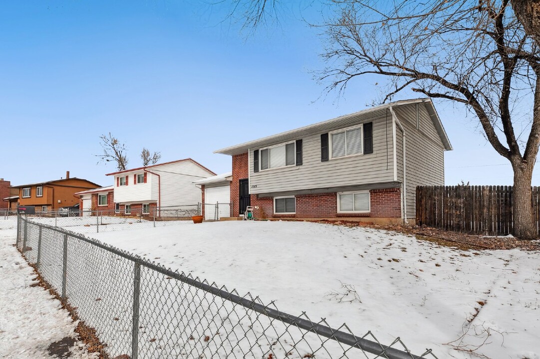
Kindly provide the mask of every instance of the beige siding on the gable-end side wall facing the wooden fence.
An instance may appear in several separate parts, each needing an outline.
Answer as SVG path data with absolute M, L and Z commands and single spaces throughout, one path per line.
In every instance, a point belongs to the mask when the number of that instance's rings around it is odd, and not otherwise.
M 426 107 L 418 105 L 420 129 L 416 128 L 416 106 L 394 109 L 405 129 L 407 168 L 407 217 L 416 216 L 416 186 L 444 185 L 444 147 Z M 403 181 L 402 133 L 396 127 L 397 179 Z

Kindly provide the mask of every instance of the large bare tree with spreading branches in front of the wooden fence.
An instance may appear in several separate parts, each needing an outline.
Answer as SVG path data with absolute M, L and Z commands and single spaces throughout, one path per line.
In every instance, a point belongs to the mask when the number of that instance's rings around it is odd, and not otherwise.
M 382 102 L 412 90 L 464 105 L 512 165 L 515 236 L 536 238 L 531 179 L 540 143 L 540 2 L 331 0 L 330 6 L 334 15 L 321 24 L 328 65 L 318 73 L 328 91 L 382 76 L 388 81 Z

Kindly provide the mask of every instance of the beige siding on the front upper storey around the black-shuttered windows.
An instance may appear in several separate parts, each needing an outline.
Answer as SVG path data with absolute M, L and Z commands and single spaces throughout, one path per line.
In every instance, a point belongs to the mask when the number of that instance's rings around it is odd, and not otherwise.
M 321 162 L 321 135 L 302 137 L 302 165 L 253 171 L 253 150 L 249 153 L 251 194 L 306 189 L 347 187 L 394 181 L 392 115 L 353 123 L 373 122 L 373 153 L 333 158 Z M 346 127 L 342 127 L 346 128 Z M 338 128 L 335 128 L 338 129 Z

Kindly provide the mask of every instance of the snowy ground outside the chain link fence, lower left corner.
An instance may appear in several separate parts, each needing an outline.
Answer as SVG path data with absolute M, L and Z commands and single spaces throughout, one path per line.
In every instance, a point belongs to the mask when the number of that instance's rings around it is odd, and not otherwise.
M 60 302 L 32 286 L 36 275 L 13 246 L 16 225 L 16 218 L 0 219 L 0 358 L 57 357 L 48 348 L 66 337 L 75 339 L 71 358 L 96 358 L 77 340 L 77 323 Z

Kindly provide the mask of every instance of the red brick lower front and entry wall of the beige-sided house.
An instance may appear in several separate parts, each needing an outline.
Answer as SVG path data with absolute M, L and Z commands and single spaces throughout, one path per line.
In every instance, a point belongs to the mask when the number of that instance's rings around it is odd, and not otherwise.
M 232 156 L 232 182 L 231 182 L 231 204 L 233 206 L 232 215 L 239 216 L 239 181 L 248 178 L 248 155 L 247 153 Z M 204 193 L 204 190 L 203 190 Z M 368 218 L 401 218 L 401 189 L 373 189 L 370 193 L 369 213 L 338 213 L 338 194 L 328 192 L 322 194 L 297 195 L 296 213 L 293 215 L 274 214 L 274 198 L 259 197 L 251 195 L 251 205 L 256 207 L 253 215 L 258 219 L 270 218 L 342 218 L 361 217 Z M 204 201 L 204 198 L 203 198 Z

